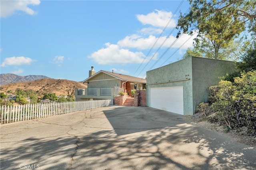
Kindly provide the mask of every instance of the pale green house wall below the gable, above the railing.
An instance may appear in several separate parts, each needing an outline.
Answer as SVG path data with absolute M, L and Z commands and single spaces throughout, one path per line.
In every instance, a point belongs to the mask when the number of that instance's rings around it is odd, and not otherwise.
M 113 79 L 113 80 L 101 80 L 101 81 L 89 81 L 87 84 L 89 88 L 109 88 L 109 87 L 120 87 L 120 80 Z

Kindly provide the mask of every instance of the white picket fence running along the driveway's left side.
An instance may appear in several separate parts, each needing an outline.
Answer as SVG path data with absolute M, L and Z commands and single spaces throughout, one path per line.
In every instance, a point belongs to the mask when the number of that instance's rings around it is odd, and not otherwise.
M 87 111 L 113 105 L 112 99 L 71 101 L 62 103 L 40 103 L 31 105 L 2 106 L 1 124 L 63 115 L 78 111 Z

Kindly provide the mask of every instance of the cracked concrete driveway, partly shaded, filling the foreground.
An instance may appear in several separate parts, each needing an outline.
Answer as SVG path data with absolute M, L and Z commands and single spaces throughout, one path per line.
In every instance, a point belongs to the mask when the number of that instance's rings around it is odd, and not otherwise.
M 256 169 L 256 148 L 148 107 L 110 106 L 0 128 L 1 169 Z

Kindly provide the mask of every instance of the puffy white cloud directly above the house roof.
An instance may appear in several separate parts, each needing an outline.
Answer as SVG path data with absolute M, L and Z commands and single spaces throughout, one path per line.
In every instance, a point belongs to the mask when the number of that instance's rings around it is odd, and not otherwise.
M 120 63 L 142 63 L 147 62 L 142 52 L 132 52 L 129 49 L 121 49 L 116 44 L 106 43 L 106 48 L 99 49 L 88 58 L 93 59 L 98 64 L 120 64 Z M 145 59 L 145 60 L 144 60 Z

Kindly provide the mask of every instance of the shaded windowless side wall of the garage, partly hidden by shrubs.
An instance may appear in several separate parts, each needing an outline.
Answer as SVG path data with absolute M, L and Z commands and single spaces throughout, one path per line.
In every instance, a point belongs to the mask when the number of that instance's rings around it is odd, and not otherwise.
M 192 57 L 193 102 L 209 100 L 210 86 L 218 85 L 218 77 L 235 70 L 234 62 L 208 58 Z

